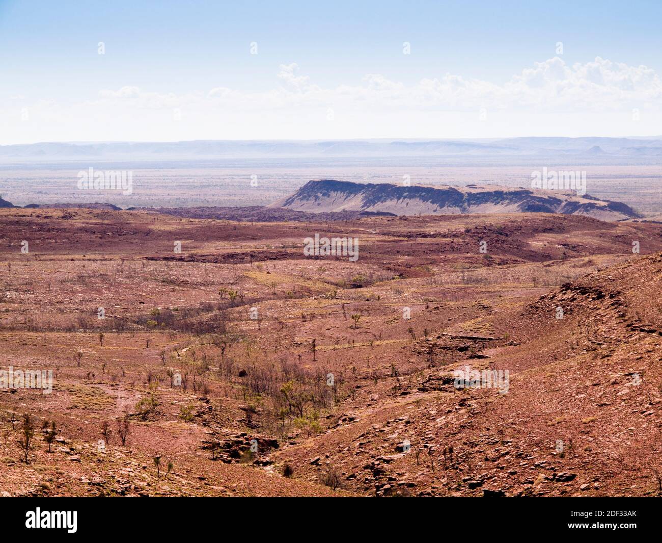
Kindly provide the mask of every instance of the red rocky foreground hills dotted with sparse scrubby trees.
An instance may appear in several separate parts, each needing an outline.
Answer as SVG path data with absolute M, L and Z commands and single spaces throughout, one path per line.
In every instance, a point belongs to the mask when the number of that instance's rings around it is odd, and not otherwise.
M 53 371 L 50 394 L 0 390 L 3 495 L 662 491 L 659 223 L 0 225 L 1 369 Z M 357 261 L 306 257 L 316 233 L 357 237 Z M 455 387 L 467 367 L 508 371 L 507 391 Z

